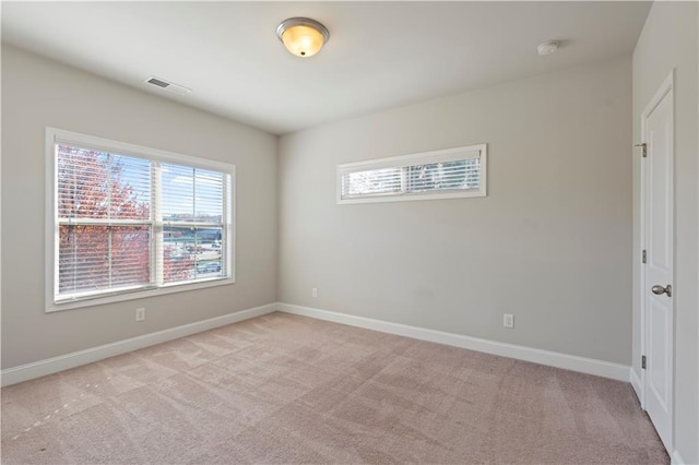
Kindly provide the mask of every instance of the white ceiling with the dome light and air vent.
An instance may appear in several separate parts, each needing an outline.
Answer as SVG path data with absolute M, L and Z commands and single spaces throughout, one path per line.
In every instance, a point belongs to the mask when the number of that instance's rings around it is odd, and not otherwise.
M 630 55 L 649 2 L 2 2 L 2 40 L 282 134 Z M 275 28 L 330 29 L 315 57 Z M 560 40 L 540 57 L 536 46 Z M 190 87 L 179 96 L 145 84 Z

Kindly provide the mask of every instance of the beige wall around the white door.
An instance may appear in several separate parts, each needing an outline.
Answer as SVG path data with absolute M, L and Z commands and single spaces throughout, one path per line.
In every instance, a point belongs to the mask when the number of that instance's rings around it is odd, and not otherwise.
M 655 2 L 633 52 L 633 141 L 640 115 L 675 70 L 675 449 L 699 463 L 699 238 L 697 86 L 699 11 L 696 2 Z M 633 159 L 633 250 L 640 250 L 640 158 Z M 633 255 L 633 370 L 640 377 L 640 277 Z

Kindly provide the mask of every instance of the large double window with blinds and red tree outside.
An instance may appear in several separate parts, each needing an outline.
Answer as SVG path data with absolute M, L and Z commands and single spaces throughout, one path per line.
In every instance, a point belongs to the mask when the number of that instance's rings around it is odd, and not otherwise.
M 228 284 L 233 165 L 47 129 L 47 309 Z

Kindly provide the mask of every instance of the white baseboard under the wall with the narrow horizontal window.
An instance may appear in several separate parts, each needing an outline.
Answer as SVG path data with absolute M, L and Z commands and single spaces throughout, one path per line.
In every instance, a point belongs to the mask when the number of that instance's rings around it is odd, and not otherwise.
M 355 317 L 351 314 L 337 313 L 334 311 L 315 309 L 310 307 L 295 306 L 291 303 L 279 302 L 276 307 L 277 310 L 286 313 L 316 318 L 318 320 L 327 320 L 335 323 L 348 324 L 351 326 L 358 326 L 367 330 L 412 337 L 415 339 L 429 341 L 433 343 L 446 344 L 470 350 L 483 351 L 501 357 L 532 361 L 534 363 L 564 368 L 566 370 L 579 371 L 588 374 L 595 374 L 597 377 L 611 378 L 618 381 L 629 382 L 630 379 L 630 367 L 626 365 L 612 363 L 608 361 L 578 357 L 574 355 L 559 354 L 549 350 L 518 346 L 514 344 L 498 343 L 495 341 L 481 339 L 477 337 L 470 337 L 461 334 L 446 333 L 442 331 L 427 330 L 417 326 L 408 326 L 406 324 L 391 323 L 388 321 Z

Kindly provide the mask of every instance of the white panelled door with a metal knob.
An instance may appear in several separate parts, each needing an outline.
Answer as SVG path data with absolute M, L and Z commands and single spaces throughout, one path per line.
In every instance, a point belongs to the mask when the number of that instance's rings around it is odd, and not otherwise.
M 672 74 L 643 111 L 645 410 L 665 449 L 673 441 L 673 86 Z

